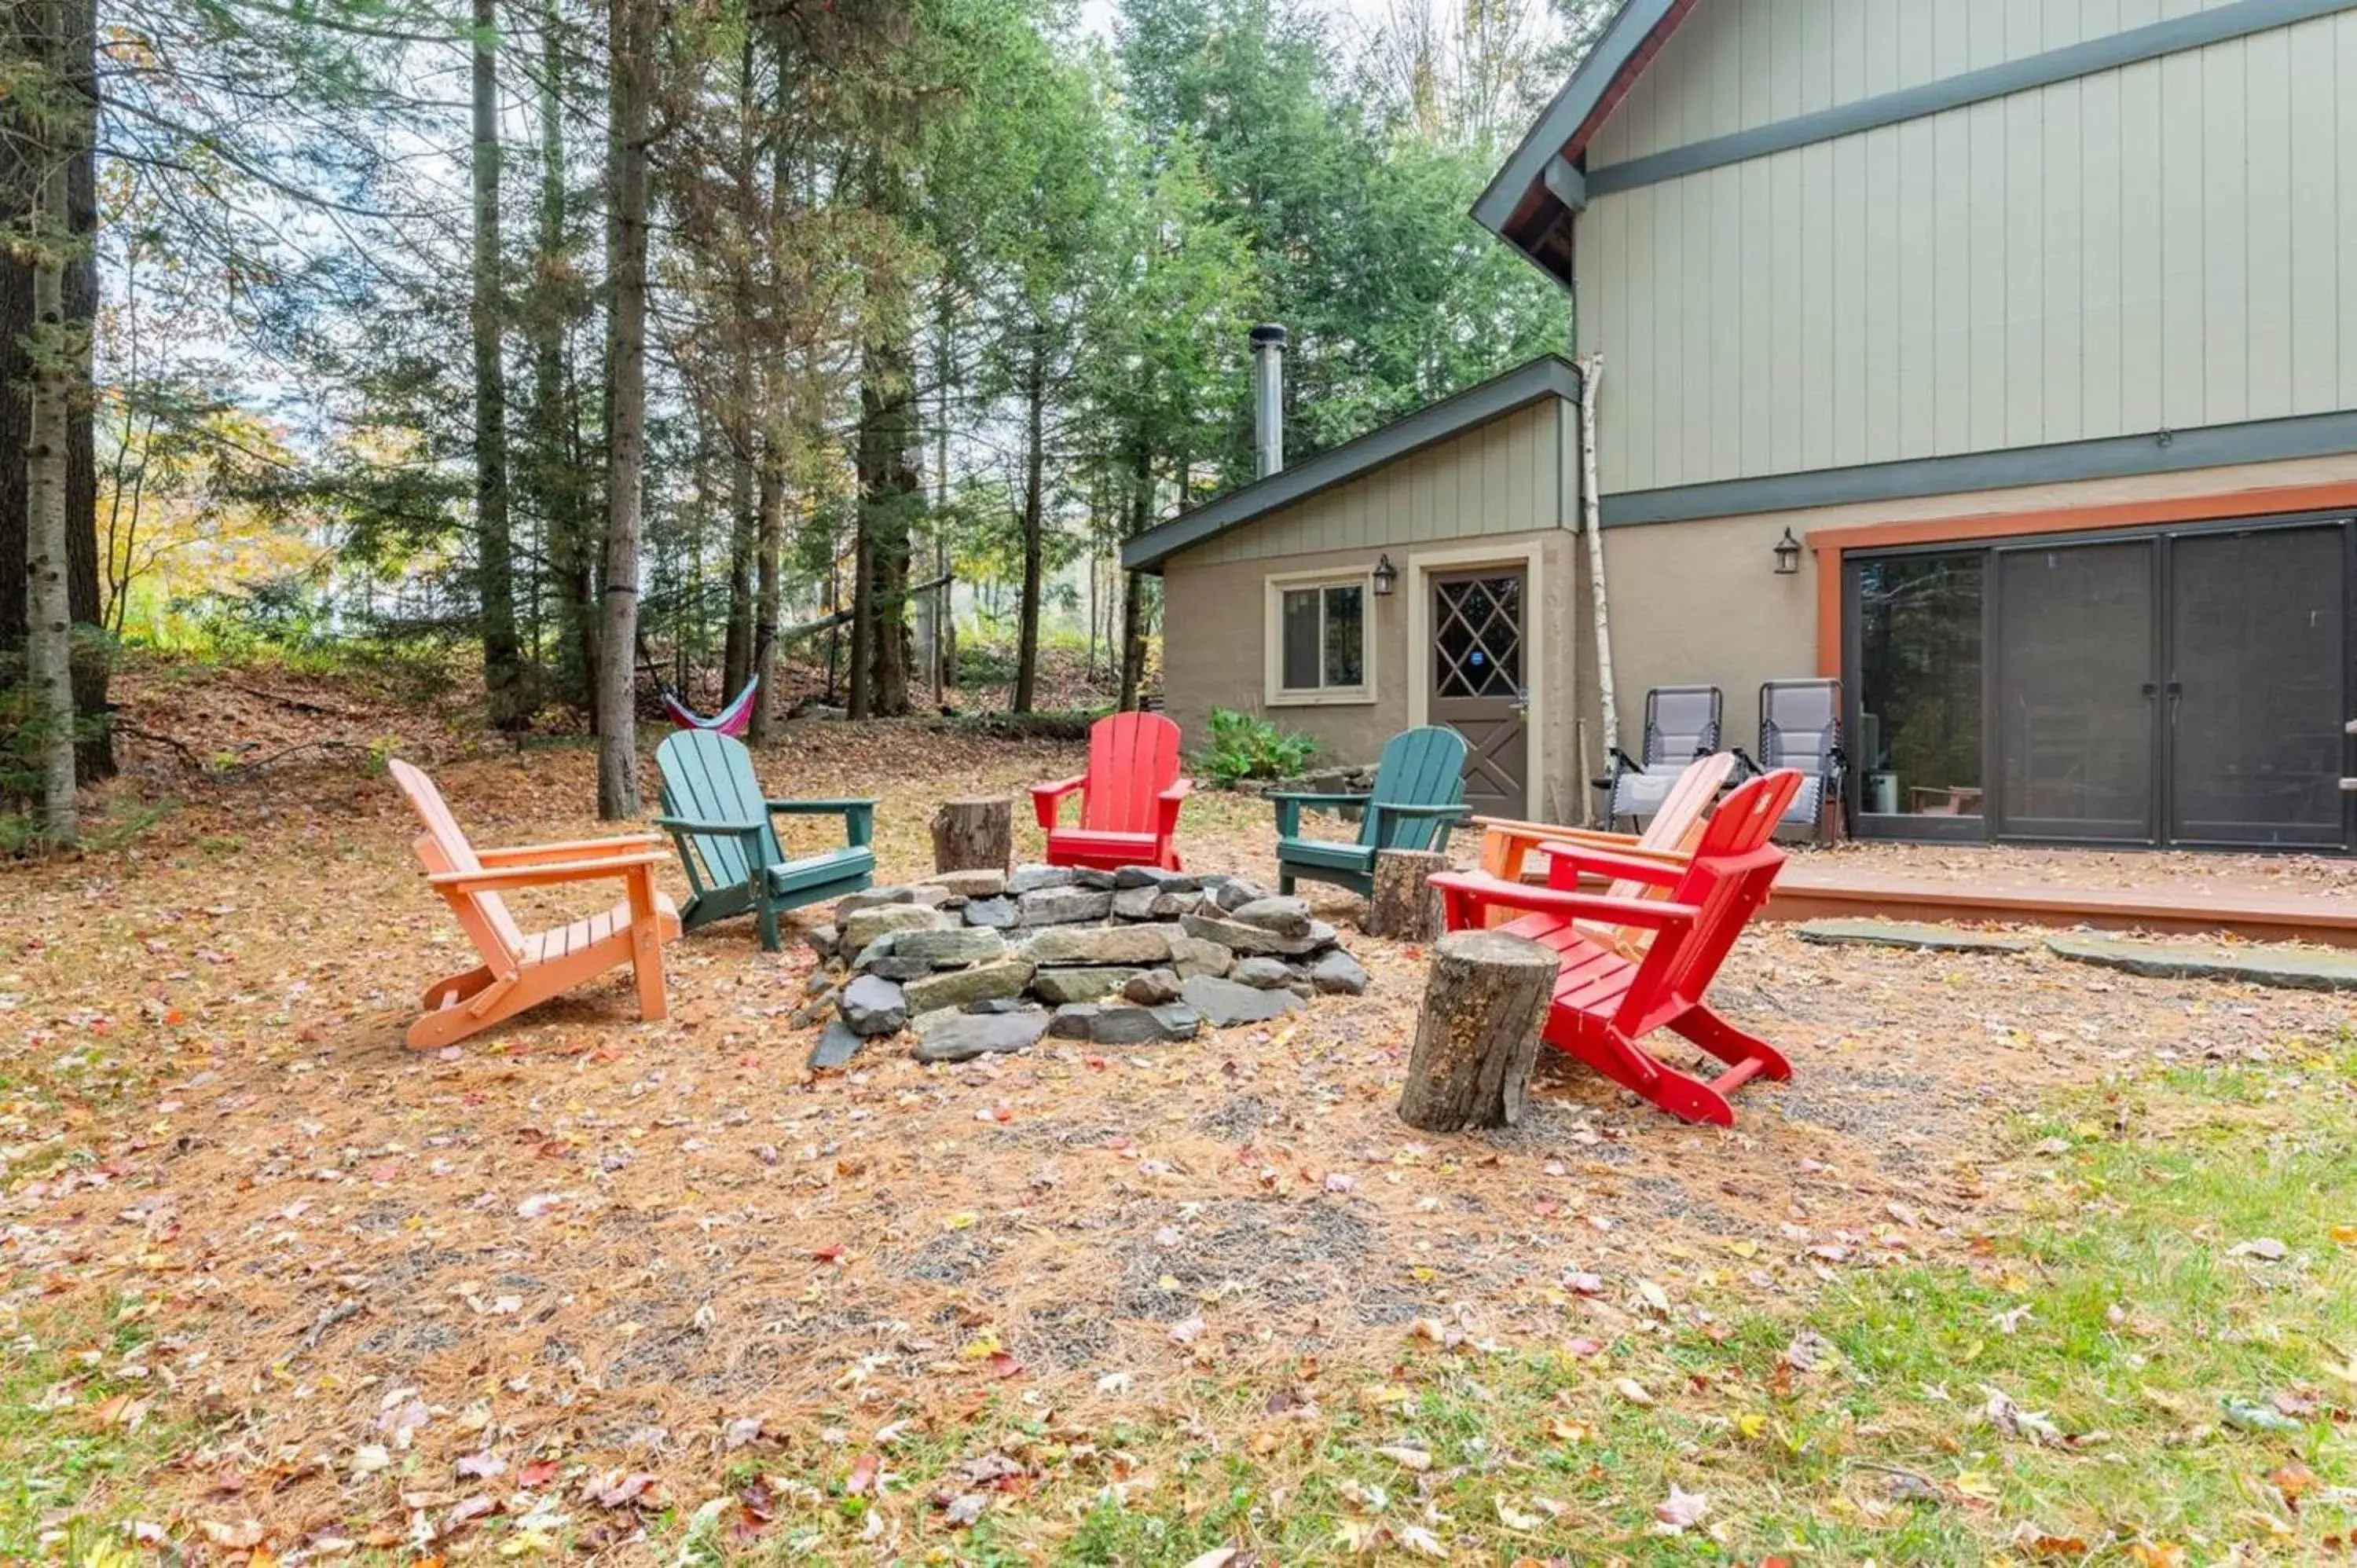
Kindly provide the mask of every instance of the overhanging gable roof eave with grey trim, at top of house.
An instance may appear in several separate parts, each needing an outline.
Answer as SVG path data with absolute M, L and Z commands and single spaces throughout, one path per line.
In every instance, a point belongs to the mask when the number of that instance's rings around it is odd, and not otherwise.
M 1570 283 L 1572 238 L 1565 219 L 1586 205 L 1579 156 L 1692 9 L 1695 0 L 1624 0 L 1572 80 L 1473 200 L 1473 219 Z

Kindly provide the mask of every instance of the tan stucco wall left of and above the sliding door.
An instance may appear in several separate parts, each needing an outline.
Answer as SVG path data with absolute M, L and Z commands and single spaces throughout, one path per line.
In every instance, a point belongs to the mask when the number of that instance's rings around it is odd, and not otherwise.
M 2317 500 L 2286 502 L 2298 493 Z M 1758 755 L 1761 681 L 1838 677 L 1841 538 L 1834 535 L 1843 531 L 1916 526 L 1907 542 L 1928 545 L 1985 538 L 2003 519 L 2032 519 L 2055 533 L 2143 526 L 2150 519 L 2140 509 L 2154 505 L 2178 507 L 2178 521 L 2357 507 L 2357 455 L 1607 528 L 1622 747 L 1633 755 L 1643 740 L 1650 686 L 1718 686 L 1728 700 L 1728 743 Z M 1810 542 L 1791 578 L 1772 571 L 1784 528 Z

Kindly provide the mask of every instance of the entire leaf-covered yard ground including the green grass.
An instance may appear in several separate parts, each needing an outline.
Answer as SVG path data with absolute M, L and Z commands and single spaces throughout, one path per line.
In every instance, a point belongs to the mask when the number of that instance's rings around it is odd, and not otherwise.
M 203 712 L 321 722 L 273 691 L 139 700 L 219 757 Z M 587 750 L 304 700 L 434 759 L 478 842 L 599 830 Z M 804 724 L 759 769 L 879 795 L 919 875 L 936 799 L 1077 747 Z M 1761 929 L 1718 1000 L 1796 1078 L 1735 1132 L 1565 1070 L 1431 1139 L 1412 950 L 1351 934 L 1369 995 L 1280 1033 L 813 1080 L 808 953 L 724 927 L 665 1023 L 615 979 L 415 1056 L 462 943 L 410 835 L 297 755 L 5 872 L 0 1554 L 2345 1544 L 2345 997 Z M 1183 844 L 1266 875 L 1266 809 L 1202 797 Z

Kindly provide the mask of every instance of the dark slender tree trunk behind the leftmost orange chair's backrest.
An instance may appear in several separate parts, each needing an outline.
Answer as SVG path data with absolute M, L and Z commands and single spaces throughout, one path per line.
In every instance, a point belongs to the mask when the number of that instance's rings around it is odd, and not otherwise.
M 533 698 L 523 646 L 516 641 L 516 549 L 507 523 L 497 26 L 500 2 L 474 0 L 474 521 L 490 724 L 523 729 L 533 717 Z

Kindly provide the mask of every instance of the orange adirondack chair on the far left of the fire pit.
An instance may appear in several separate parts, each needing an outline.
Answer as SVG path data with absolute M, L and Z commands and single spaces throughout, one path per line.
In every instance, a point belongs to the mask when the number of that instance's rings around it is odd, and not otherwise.
M 450 901 L 450 913 L 483 960 L 427 986 L 424 1016 L 410 1023 L 412 1052 L 464 1040 L 618 964 L 636 974 L 641 1019 L 669 1014 L 662 943 L 679 938 L 679 913 L 655 889 L 655 868 L 669 858 L 662 835 L 474 849 L 431 778 L 398 759 L 391 773 L 427 825 L 415 844 L 427 882 Z M 622 903 L 535 936 L 516 927 L 500 898 L 500 889 L 606 877 L 620 877 L 629 889 Z

